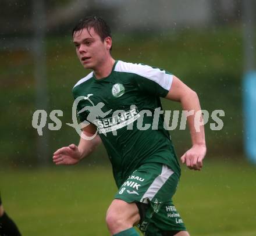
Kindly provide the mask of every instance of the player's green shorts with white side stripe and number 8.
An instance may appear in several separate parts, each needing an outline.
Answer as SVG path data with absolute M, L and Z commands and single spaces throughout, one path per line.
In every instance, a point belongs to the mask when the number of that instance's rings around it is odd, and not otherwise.
M 138 228 L 145 235 L 186 230 L 172 202 L 179 176 L 161 163 L 147 163 L 135 170 L 119 188 L 115 199 L 134 202 L 140 212 Z

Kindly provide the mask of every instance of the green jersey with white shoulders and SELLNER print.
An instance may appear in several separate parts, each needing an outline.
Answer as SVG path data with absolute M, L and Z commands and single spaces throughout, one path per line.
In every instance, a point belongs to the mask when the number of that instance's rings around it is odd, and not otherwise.
M 74 85 L 74 99 L 84 96 L 77 105 L 79 118 L 98 127 L 118 187 L 144 163 L 163 163 L 180 176 L 163 115 L 154 120 L 172 77 L 165 70 L 118 60 L 108 77 L 97 79 L 91 72 Z

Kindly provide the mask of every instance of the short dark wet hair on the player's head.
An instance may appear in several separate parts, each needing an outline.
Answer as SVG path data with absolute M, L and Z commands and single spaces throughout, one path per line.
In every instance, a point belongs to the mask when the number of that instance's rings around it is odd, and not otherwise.
M 79 23 L 74 26 L 72 30 L 72 37 L 77 31 L 83 30 L 86 28 L 88 33 L 90 34 L 90 29 L 94 28 L 95 33 L 99 35 L 101 41 L 103 42 L 106 37 L 111 37 L 111 29 L 104 19 L 98 16 L 87 16 L 83 19 L 79 20 Z M 111 47 L 112 48 L 112 47 Z

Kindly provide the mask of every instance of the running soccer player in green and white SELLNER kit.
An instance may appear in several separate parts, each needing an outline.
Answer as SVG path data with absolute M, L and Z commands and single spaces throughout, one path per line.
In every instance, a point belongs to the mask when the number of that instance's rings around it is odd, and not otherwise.
M 179 162 L 163 115 L 156 111 L 161 108 L 160 97 L 194 110 L 187 117 L 192 147 L 181 160 L 200 170 L 206 146 L 204 127 L 198 131 L 194 126 L 195 112 L 200 111 L 197 94 L 165 70 L 114 60 L 111 31 L 100 17 L 81 20 L 73 29 L 73 42 L 81 64 L 93 70 L 73 88 L 85 138 L 78 146 L 58 149 L 54 162 L 74 165 L 102 141 L 119 188 L 106 213 L 111 235 L 138 235 L 136 225 L 148 236 L 189 235 L 172 202 Z

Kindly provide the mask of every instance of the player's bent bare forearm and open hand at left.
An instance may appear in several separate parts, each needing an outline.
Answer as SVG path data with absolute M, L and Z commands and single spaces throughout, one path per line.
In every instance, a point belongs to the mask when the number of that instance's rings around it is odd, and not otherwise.
M 96 132 L 96 127 L 94 124 L 89 124 L 83 128 L 84 135 L 91 137 Z M 81 159 L 86 158 L 94 151 L 96 146 L 101 143 L 101 138 L 96 135 L 93 140 L 84 140 L 80 138 L 79 145 L 70 144 L 69 146 L 64 146 L 54 152 L 53 160 L 56 165 L 75 165 Z

